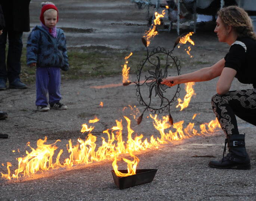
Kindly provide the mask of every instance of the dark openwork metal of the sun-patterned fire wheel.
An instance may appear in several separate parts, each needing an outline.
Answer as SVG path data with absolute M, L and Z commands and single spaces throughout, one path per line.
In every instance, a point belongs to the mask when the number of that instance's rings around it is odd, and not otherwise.
M 163 113 L 163 111 L 168 110 L 169 111 L 169 122 L 170 124 L 173 124 L 173 119 L 172 116 L 170 114 L 170 106 L 172 105 L 171 103 L 173 101 L 176 101 L 177 98 L 179 97 L 179 92 L 181 91 L 180 85 L 177 84 L 177 89 L 175 94 L 171 97 L 171 99 L 168 99 L 164 96 L 164 92 L 166 92 L 166 89 L 170 88 L 169 86 L 166 86 L 164 84 L 161 84 L 162 80 L 165 79 L 167 77 L 168 74 L 168 67 L 169 67 L 169 59 L 173 60 L 173 63 L 175 63 L 176 66 L 176 70 L 178 75 L 180 75 L 181 72 L 181 66 L 180 66 L 180 61 L 178 60 L 177 57 L 172 55 L 172 52 L 174 50 L 174 48 L 176 47 L 176 45 L 179 43 L 180 37 L 178 37 L 175 41 L 175 45 L 173 47 L 172 50 L 166 50 L 163 47 L 157 47 L 154 48 L 150 53 L 147 47 L 147 41 L 145 38 L 142 38 L 142 43 L 145 45 L 146 50 L 147 50 L 147 55 L 146 58 L 144 60 L 142 60 L 139 65 L 138 65 L 138 71 L 136 73 L 137 75 L 137 80 L 133 83 L 136 84 L 136 96 L 137 96 L 137 100 L 139 101 L 139 103 L 143 106 L 145 106 L 144 111 L 142 112 L 142 115 L 138 118 L 137 123 L 140 124 L 142 121 L 142 117 L 143 114 L 146 110 L 150 111 L 152 114 L 161 114 Z M 164 54 L 166 55 L 166 63 L 164 64 L 164 72 L 162 72 L 163 69 L 161 69 L 161 60 L 160 58 L 157 56 L 157 54 Z M 153 61 L 151 61 L 151 57 L 155 56 L 157 58 L 157 64 L 155 64 Z M 146 63 L 151 64 L 152 66 L 155 66 L 155 70 L 154 71 L 149 71 L 149 76 L 145 75 L 145 80 L 142 81 L 142 71 L 143 68 L 145 67 Z M 175 75 L 176 76 L 176 75 Z M 127 83 L 123 83 L 124 86 L 129 85 L 132 82 L 127 82 Z M 149 103 L 145 102 L 145 99 L 142 97 L 141 94 L 141 87 L 144 86 L 144 84 L 146 84 L 146 86 L 149 87 Z M 155 89 L 155 96 L 158 96 L 161 99 L 161 104 L 158 108 L 152 107 L 150 106 L 151 104 L 151 96 L 152 96 L 152 90 Z M 163 101 L 166 100 L 167 103 L 163 105 Z

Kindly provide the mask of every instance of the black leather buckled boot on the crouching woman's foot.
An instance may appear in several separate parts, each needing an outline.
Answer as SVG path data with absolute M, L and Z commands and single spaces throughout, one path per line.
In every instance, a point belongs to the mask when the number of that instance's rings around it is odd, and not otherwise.
M 228 144 L 229 153 L 224 157 L 226 153 L 226 144 Z M 222 160 L 211 160 L 209 162 L 209 166 L 219 169 L 251 169 L 250 158 L 245 148 L 244 135 L 228 135 L 225 140 Z

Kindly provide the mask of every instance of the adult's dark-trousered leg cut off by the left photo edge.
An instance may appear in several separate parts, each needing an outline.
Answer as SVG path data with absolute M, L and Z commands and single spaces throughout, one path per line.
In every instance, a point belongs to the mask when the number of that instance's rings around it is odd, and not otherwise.
M 7 70 L 5 63 L 5 47 L 7 39 L 7 30 L 3 29 L 2 35 L 0 35 L 0 90 L 6 89 Z

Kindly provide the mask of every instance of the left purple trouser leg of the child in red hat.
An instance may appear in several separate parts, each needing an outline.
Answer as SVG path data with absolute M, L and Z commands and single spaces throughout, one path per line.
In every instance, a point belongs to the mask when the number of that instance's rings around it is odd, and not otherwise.
M 49 74 L 47 68 L 36 69 L 36 106 L 47 106 Z

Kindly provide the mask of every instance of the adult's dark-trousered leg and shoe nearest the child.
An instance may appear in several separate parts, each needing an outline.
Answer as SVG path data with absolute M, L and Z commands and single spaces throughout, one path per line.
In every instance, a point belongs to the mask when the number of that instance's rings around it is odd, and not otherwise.
M 7 77 L 9 87 L 16 89 L 27 88 L 26 84 L 22 83 L 19 78 L 21 73 L 21 53 L 22 53 L 22 32 L 8 32 L 8 55 L 7 55 Z

